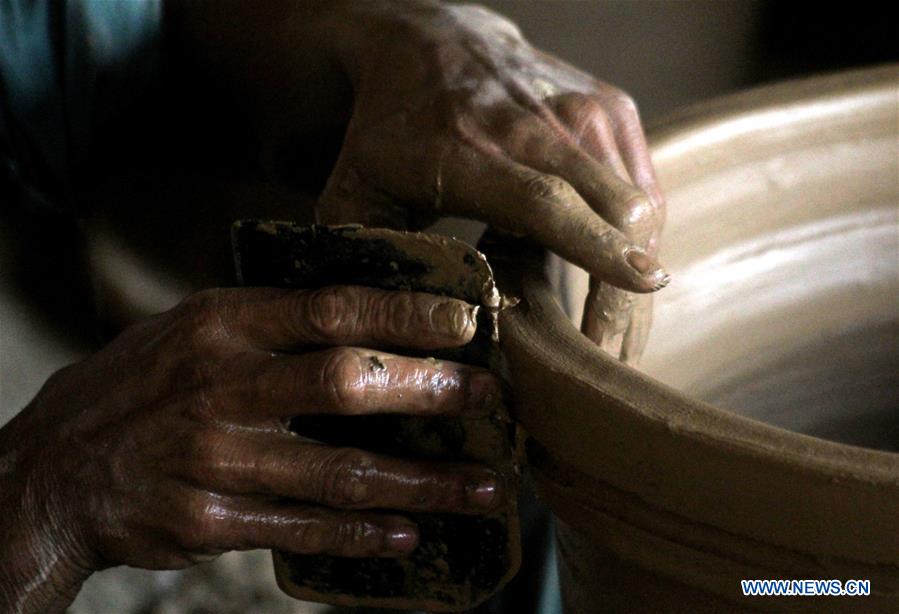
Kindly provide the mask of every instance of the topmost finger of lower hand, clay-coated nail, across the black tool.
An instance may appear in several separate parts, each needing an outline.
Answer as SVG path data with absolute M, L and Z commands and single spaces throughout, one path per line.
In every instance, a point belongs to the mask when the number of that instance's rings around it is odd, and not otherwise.
M 476 306 L 421 292 L 331 286 L 233 288 L 197 296 L 191 304 L 201 316 L 266 350 L 309 345 L 432 350 L 468 343 L 477 327 Z

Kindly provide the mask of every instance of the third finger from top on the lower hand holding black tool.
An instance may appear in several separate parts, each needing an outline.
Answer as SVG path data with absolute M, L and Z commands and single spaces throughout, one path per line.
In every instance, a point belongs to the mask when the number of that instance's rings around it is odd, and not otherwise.
M 505 499 L 503 481 L 484 465 L 397 459 L 281 436 L 232 440 L 217 486 L 343 509 L 483 514 Z M 202 464 L 202 463 L 200 463 Z M 199 469 L 199 471 L 205 471 Z

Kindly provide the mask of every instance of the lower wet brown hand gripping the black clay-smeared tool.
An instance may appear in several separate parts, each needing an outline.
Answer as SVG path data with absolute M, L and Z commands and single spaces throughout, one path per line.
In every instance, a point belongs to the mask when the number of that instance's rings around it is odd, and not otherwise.
M 483 465 L 310 443 L 283 425 L 489 413 L 487 371 L 356 347 L 427 351 L 474 329 L 461 301 L 359 287 L 205 291 L 127 329 L 0 430 L 0 611 L 62 608 L 110 565 L 251 548 L 401 556 L 417 528 L 390 510 L 495 507 L 505 491 Z

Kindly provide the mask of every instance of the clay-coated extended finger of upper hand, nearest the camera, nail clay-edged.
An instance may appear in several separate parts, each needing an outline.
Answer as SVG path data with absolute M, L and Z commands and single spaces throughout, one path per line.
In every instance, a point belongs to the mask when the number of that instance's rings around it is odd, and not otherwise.
M 667 283 L 658 262 L 557 176 L 499 155 L 469 151 L 447 164 L 446 186 L 447 208 L 455 214 L 530 235 L 618 287 L 653 292 Z

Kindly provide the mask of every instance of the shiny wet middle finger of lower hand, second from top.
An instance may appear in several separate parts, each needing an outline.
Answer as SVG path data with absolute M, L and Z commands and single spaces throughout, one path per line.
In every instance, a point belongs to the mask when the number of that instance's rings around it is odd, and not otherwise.
M 432 358 L 340 347 L 242 356 L 223 373 L 222 403 L 237 416 L 491 414 L 499 382 L 487 370 Z

